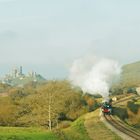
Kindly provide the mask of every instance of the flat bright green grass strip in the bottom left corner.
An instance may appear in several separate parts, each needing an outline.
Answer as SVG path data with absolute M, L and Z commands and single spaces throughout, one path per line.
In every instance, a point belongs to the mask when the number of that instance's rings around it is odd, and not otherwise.
M 58 140 L 52 132 L 39 128 L 0 127 L 0 140 Z

